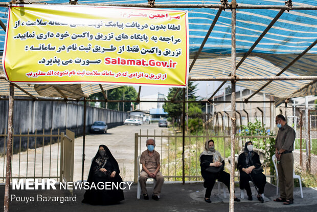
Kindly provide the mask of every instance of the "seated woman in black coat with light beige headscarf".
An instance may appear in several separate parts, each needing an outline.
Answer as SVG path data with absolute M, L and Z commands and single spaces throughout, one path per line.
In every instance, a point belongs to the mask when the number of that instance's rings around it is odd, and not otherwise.
M 215 142 L 213 140 L 206 141 L 205 151 L 203 151 L 200 156 L 200 167 L 201 167 L 201 176 L 204 179 L 203 187 L 206 188 L 206 194 L 204 200 L 208 203 L 211 203 L 210 195 L 212 188 L 216 182 L 216 179 L 220 182 L 223 182 L 230 192 L 230 174 L 222 171 L 218 173 L 211 173 L 209 171 L 210 167 L 224 167 L 224 160 L 221 157 L 220 153 L 215 150 Z M 240 202 L 236 196 L 234 196 L 234 201 Z

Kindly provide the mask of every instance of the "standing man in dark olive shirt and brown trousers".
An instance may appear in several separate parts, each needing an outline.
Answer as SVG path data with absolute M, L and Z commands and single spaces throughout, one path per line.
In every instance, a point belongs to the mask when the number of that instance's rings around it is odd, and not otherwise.
M 284 202 L 284 205 L 293 204 L 293 149 L 295 131 L 287 125 L 283 115 L 277 115 L 275 123 L 279 128 L 275 140 L 275 156 L 278 160 L 279 187 L 281 196 L 274 201 Z

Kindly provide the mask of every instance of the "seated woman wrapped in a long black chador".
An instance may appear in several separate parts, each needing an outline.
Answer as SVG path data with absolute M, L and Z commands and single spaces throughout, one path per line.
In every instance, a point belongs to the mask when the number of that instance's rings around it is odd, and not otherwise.
M 82 203 L 88 203 L 92 205 L 109 205 L 119 203 L 124 200 L 123 190 L 120 189 L 120 182 L 122 178 L 119 176 L 119 165 L 110 153 L 109 149 L 105 145 L 100 145 L 99 150 L 90 166 L 88 182 L 91 189 L 87 189 L 84 194 Z M 103 182 L 102 185 L 111 189 L 95 189 L 92 185 L 93 182 L 97 187 L 99 182 Z M 112 182 L 118 185 L 112 186 Z M 100 183 L 101 184 L 101 183 Z M 100 186 L 99 186 L 100 187 Z M 101 188 L 101 187 L 100 187 Z

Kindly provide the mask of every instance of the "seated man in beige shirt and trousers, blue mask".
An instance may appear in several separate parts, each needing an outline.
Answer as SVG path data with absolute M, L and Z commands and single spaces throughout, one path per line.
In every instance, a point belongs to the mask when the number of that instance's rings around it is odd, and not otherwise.
M 142 163 L 142 170 L 140 173 L 140 185 L 145 200 L 149 199 L 146 189 L 146 181 L 148 178 L 154 178 L 156 180 L 152 199 L 160 200 L 160 193 L 164 182 L 164 177 L 160 172 L 160 154 L 154 150 L 155 140 L 146 140 L 147 150 L 141 154 L 140 163 Z

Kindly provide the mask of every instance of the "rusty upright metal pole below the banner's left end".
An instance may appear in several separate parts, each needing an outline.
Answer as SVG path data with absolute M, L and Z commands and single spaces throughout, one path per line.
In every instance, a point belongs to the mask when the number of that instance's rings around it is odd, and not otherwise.
M 12 157 L 12 128 L 13 128 L 13 106 L 14 106 L 14 84 L 10 83 L 9 95 L 9 113 L 8 113 L 8 145 L 7 145 L 7 169 L 6 169 L 6 185 L 5 185 L 5 202 L 4 211 L 9 211 L 9 195 L 10 195 L 10 182 L 11 182 L 11 157 Z

